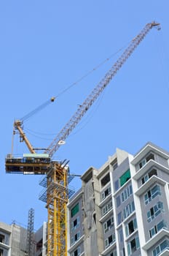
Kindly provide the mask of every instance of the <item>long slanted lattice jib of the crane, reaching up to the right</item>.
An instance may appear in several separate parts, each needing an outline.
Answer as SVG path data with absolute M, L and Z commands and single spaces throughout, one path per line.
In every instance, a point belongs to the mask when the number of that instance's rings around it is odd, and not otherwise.
M 79 123 L 81 118 L 84 116 L 84 113 L 89 110 L 89 108 L 93 105 L 93 102 L 99 97 L 101 92 L 106 88 L 106 86 L 109 84 L 111 79 L 116 75 L 117 71 L 122 67 L 122 65 L 125 63 L 125 61 L 130 57 L 130 55 L 133 53 L 135 48 L 140 44 L 140 42 L 146 37 L 146 34 L 153 28 L 157 27 L 157 29 L 160 29 L 160 23 L 147 23 L 144 29 L 132 40 L 130 45 L 125 49 L 125 51 L 122 53 L 122 55 L 119 57 L 119 59 L 115 62 L 115 64 L 109 69 L 109 72 L 106 73 L 105 77 L 101 80 L 100 83 L 93 89 L 93 91 L 90 93 L 90 95 L 87 97 L 87 99 L 84 100 L 82 105 L 76 110 L 76 113 L 74 113 L 74 116 L 71 117 L 71 119 L 66 123 L 65 127 L 60 130 L 58 135 L 55 137 L 55 139 L 52 141 L 50 146 L 47 148 L 44 153 L 48 153 L 50 157 L 52 157 L 53 154 L 55 154 L 55 151 L 58 150 L 60 147 L 60 140 L 64 141 L 68 137 L 68 135 L 71 133 L 71 131 L 76 127 L 76 124 Z

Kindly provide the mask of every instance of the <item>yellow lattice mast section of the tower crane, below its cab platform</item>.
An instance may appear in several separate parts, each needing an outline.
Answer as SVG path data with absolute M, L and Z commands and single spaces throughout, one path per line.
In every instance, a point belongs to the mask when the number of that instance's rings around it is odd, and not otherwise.
M 47 223 L 47 256 L 67 255 L 67 214 L 68 197 L 74 191 L 68 189 L 69 169 L 67 165 L 51 162 L 50 171 L 40 185 L 46 187 L 39 199 L 46 202 Z

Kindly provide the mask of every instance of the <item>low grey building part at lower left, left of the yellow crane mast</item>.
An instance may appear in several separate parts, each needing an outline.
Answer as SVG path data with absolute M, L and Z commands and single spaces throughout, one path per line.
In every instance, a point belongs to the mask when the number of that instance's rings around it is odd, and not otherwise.
M 47 255 L 47 223 L 36 232 L 30 233 L 26 227 L 13 222 L 12 225 L 0 222 L 1 256 L 42 256 Z

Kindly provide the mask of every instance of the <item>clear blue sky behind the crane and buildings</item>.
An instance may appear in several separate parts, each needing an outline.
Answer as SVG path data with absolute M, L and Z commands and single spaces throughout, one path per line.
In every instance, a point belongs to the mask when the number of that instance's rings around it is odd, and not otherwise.
M 101 167 L 116 148 L 135 154 L 152 141 L 169 151 L 168 9 L 166 0 L 1 1 L 0 221 L 27 225 L 29 208 L 35 209 L 35 229 L 47 220 L 38 199 L 41 177 L 5 173 L 14 118 L 113 56 L 25 122 L 31 144 L 47 147 L 114 64 L 114 53 L 152 20 L 162 29 L 149 32 L 54 159 L 70 160 L 71 173 L 82 174 L 91 165 Z M 15 135 L 14 154 L 23 153 L 28 150 Z M 81 181 L 71 186 L 78 189 Z

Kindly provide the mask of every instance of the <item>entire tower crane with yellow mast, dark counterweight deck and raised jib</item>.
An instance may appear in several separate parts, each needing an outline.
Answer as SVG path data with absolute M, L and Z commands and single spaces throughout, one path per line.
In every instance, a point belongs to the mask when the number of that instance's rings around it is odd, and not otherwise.
M 15 158 L 12 154 L 6 157 L 6 173 L 23 173 L 23 174 L 46 174 L 44 187 L 46 193 L 42 195 L 42 200 L 46 201 L 48 211 L 47 225 L 47 256 L 66 256 L 67 255 L 67 222 L 66 222 L 66 204 L 68 203 L 68 175 L 69 170 L 67 162 L 57 162 L 52 160 L 52 156 L 58 151 L 58 148 L 66 140 L 71 131 L 76 127 L 84 114 L 93 105 L 99 95 L 106 88 L 117 71 L 127 61 L 130 55 L 140 42 L 146 37 L 146 34 L 153 28 L 160 29 L 160 23 L 147 23 L 144 29 L 134 37 L 130 45 L 125 49 L 122 55 L 113 64 L 109 72 L 106 73 L 100 83 L 93 89 L 87 99 L 76 110 L 74 116 L 70 118 L 67 124 L 61 129 L 58 135 L 52 140 L 50 146 L 43 154 L 37 154 L 29 143 L 23 132 L 23 121 L 17 120 L 14 129 L 19 132 L 20 137 L 25 141 L 30 154 L 23 154 L 22 158 Z

